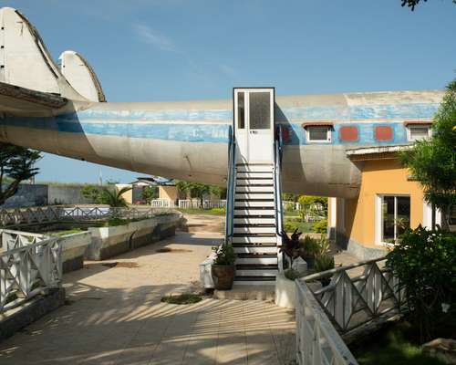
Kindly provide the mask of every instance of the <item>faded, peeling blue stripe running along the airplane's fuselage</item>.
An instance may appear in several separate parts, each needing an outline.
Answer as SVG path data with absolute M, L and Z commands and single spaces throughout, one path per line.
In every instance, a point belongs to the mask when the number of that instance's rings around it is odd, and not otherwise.
M 301 125 L 306 120 L 339 120 L 334 124 L 330 144 L 345 143 L 338 138 L 343 125 L 358 127 L 358 141 L 350 144 L 383 144 L 406 142 L 406 129 L 398 120 L 430 119 L 438 106 L 428 103 L 296 107 L 275 111 L 276 120 L 289 127 L 289 145 L 307 144 L 306 130 Z M 163 141 L 226 143 L 232 120 L 232 110 L 83 110 L 49 118 L 6 117 L 0 119 L 0 125 Z M 393 128 L 393 141 L 375 140 L 375 126 L 382 124 Z

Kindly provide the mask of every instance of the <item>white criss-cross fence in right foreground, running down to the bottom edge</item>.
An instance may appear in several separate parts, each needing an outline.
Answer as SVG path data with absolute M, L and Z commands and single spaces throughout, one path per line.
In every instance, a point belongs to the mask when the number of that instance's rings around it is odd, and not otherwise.
M 296 280 L 299 364 L 357 364 L 347 337 L 374 320 L 399 313 L 402 294 L 385 257 L 337 267 Z M 326 287 L 312 281 L 330 278 Z

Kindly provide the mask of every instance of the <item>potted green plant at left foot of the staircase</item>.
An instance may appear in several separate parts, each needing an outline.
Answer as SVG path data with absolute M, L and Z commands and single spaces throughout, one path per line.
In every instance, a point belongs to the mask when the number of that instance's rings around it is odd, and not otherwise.
M 212 247 L 212 250 L 215 252 L 215 259 L 211 267 L 214 287 L 217 290 L 230 290 L 233 287 L 236 272 L 234 248 L 225 241 L 218 247 Z

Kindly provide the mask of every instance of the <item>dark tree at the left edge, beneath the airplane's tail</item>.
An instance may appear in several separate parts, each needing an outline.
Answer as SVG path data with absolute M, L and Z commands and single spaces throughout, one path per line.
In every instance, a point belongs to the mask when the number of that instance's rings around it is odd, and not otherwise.
M 34 165 L 40 158 L 38 151 L 0 143 L 0 205 L 17 193 L 21 182 L 39 172 Z

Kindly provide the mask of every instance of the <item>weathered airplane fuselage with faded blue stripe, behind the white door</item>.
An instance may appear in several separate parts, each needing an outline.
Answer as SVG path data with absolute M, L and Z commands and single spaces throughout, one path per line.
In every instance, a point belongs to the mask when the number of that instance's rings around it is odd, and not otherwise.
M 275 123 L 283 127 L 283 190 L 351 198 L 359 166 L 347 149 L 406 144 L 409 120 L 431 120 L 440 91 L 390 91 L 279 97 Z M 303 124 L 327 122 L 331 139 L 308 141 Z M 232 100 L 154 103 L 75 103 L 42 114 L 0 115 L 0 141 L 135 172 L 224 185 Z M 340 130 L 352 126 L 356 140 Z M 392 134 L 378 141 L 376 128 Z

